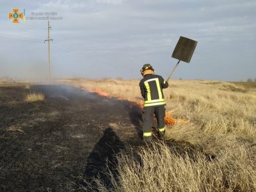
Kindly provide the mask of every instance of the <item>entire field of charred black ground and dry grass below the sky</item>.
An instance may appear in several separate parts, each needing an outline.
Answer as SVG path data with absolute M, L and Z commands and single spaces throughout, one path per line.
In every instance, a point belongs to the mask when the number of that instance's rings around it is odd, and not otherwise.
M 1 189 L 255 191 L 254 83 L 172 80 L 166 140 L 151 147 L 141 144 L 137 86 L 2 81 Z

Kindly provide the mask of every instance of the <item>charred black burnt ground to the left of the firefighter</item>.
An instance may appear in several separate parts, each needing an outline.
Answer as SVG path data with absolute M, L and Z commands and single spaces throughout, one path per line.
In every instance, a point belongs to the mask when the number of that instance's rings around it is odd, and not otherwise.
M 44 101 L 26 102 L 29 92 Z M 141 144 L 141 110 L 67 85 L 0 87 L 0 191 L 80 191 Z M 19 128 L 19 130 L 17 129 Z

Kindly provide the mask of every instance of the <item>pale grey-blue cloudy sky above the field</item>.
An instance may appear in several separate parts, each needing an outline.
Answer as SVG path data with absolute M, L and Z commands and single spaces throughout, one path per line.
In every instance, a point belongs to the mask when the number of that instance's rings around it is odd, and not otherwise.
M 198 41 L 190 63 L 174 79 L 246 81 L 256 77 L 255 0 L 0 0 L 0 77 L 46 78 L 47 21 L 13 24 L 8 13 L 26 17 L 55 13 L 51 31 L 54 78 L 141 78 L 152 64 L 167 78 L 177 63 L 180 36 Z M 35 15 L 32 15 L 35 13 Z

